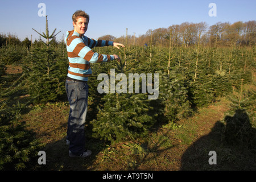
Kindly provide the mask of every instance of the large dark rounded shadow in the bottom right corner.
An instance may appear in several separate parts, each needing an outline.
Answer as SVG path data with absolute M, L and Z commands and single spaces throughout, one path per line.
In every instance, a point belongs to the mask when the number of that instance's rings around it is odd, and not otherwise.
M 213 156 L 210 151 L 215 151 Z M 212 157 L 216 164 L 210 164 Z M 212 131 L 193 143 L 181 158 L 181 170 L 255 170 L 256 129 L 244 109 L 218 121 Z

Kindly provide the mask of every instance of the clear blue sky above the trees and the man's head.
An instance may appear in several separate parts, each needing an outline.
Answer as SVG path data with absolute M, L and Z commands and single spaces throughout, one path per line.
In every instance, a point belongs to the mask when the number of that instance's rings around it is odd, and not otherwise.
M 46 5 L 49 32 L 55 28 L 57 40 L 66 31 L 72 30 L 72 14 L 84 10 L 90 15 L 89 38 L 97 39 L 103 35 L 120 37 L 128 34 L 146 34 L 149 29 L 168 28 L 183 22 L 206 22 L 208 26 L 217 22 L 256 20 L 255 0 L 0 0 L 0 33 L 15 34 L 20 40 L 26 37 L 33 40 L 39 36 L 32 28 L 45 32 L 46 18 L 38 16 L 39 3 Z M 215 3 L 217 16 L 209 16 L 210 3 Z

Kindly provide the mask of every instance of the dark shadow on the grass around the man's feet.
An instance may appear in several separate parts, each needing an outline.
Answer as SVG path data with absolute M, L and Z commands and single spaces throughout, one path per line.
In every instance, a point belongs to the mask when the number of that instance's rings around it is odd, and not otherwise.
M 92 138 L 92 126 L 89 121 L 92 121 L 96 117 L 97 111 L 92 109 L 98 104 L 98 100 L 94 100 L 90 104 L 88 114 L 86 117 L 86 126 L 85 126 L 85 148 L 88 148 L 92 151 L 92 155 L 86 158 L 71 158 L 68 155 L 69 146 L 66 144 L 66 138 L 63 137 L 55 142 L 46 144 L 42 149 L 46 152 L 46 165 L 36 164 L 37 170 L 41 171 L 92 171 L 95 170 L 93 163 L 96 160 L 96 156 L 101 152 L 104 147 L 104 141 Z M 91 109 L 90 109 L 91 108 Z M 57 130 L 67 130 L 68 121 L 61 124 L 59 127 L 54 130 L 47 131 L 41 135 L 51 135 Z

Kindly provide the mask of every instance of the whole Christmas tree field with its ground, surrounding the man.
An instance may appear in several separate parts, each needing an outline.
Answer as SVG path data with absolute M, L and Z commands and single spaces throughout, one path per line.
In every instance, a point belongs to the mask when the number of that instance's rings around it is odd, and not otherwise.
M 204 44 L 199 34 L 191 45 L 175 45 L 168 36 L 166 46 L 126 41 L 124 49 L 94 48 L 121 61 L 91 64 L 85 130 L 93 154 L 71 159 L 65 145 L 67 50 L 55 35 L 47 28 L 34 43 L 2 36 L 1 170 L 256 169 L 254 44 Z M 98 93 L 97 76 L 110 77 L 110 69 L 127 78 L 152 73 L 153 88 L 158 74 L 158 98 Z M 39 151 L 46 151 L 46 165 L 38 164 Z M 216 165 L 208 162 L 210 151 L 216 151 Z

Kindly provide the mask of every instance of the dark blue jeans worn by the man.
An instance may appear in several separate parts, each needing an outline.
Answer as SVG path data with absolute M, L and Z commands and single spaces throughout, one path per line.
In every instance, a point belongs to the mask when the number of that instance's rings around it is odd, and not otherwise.
M 66 80 L 66 92 L 69 101 L 67 139 L 69 150 L 74 155 L 85 151 L 85 118 L 88 107 L 88 89 L 86 82 Z

